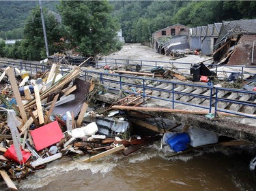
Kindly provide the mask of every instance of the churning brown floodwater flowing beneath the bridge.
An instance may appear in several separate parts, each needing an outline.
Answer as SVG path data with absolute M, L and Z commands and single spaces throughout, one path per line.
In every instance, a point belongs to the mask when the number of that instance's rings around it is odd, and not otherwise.
M 80 161 L 86 156 L 64 156 L 15 184 L 38 191 L 256 190 L 256 177 L 248 169 L 250 150 L 255 147 L 210 147 L 167 156 L 169 148 L 160 150 L 155 143 L 129 156 L 117 153 L 91 163 Z

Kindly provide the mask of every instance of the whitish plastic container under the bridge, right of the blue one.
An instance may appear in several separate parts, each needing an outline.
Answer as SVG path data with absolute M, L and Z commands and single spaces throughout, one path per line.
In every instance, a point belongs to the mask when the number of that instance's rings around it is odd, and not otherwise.
M 206 131 L 201 128 L 189 128 L 187 133 L 190 137 L 189 144 L 193 147 L 218 143 L 218 135 L 211 131 Z

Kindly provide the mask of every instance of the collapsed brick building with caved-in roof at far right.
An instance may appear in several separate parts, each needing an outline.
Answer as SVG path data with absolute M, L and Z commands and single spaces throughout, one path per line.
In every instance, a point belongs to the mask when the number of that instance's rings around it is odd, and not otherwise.
M 256 20 L 223 22 L 214 46 L 214 61 L 226 65 L 255 65 Z

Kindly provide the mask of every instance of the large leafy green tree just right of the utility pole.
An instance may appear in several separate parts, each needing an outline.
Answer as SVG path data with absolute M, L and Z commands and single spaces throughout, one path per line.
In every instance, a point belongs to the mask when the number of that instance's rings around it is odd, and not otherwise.
M 119 26 L 108 1 L 61 1 L 59 12 L 70 48 L 83 56 L 115 51 Z

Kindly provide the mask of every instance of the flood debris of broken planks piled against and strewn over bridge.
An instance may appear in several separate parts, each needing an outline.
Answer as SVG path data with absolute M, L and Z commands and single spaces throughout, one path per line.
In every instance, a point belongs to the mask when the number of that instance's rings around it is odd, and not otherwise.
M 101 90 L 93 79 L 91 82 L 79 79 L 81 65 L 87 60 L 63 76 L 58 72 L 61 60 L 52 64 L 51 71 L 37 71 L 33 76 L 27 71 L 16 69 L 20 75 L 16 77 L 10 67 L 1 71 L 0 81 L 3 80 L 5 86 L 1 86 L 0 94 L 0 173 L 9 188 L 17 190 L 11 179 L 24 179 L 63 155 L 84 156 L 86 158 L 83 162 L 92 162 L 118 151 L 127 156 L 159 141 L 163 133 L 181 125 L 159 129 L 142 120 L 128 121 L 122 116 L 122 109 L 208 114 L 206 111 L 139 107 L 146 100 L 141 92 L 136 91 L 128 97 L 120 98 L 111 107 L 101 108 L 102 112 L 89 109 L 94 94 Z M 114 70 L 115 73 L 187 80 L 173 65 L 169 69 L 156 68 L 152 73 L 138 71 Z M 206 71 L 210 73 L 206 75 L 211 77 L 212 72 Z M 8 78 L 5 79 L 5 75 Z M 145 94 L 150 95 L 152 92 Z M 221 112 L 218 114 L 233 116 Z M 129 132 L 130 123 L 148 128 L 155 135 L 134 137 Z M 186 150 L 187 147 L 184 148 Z

